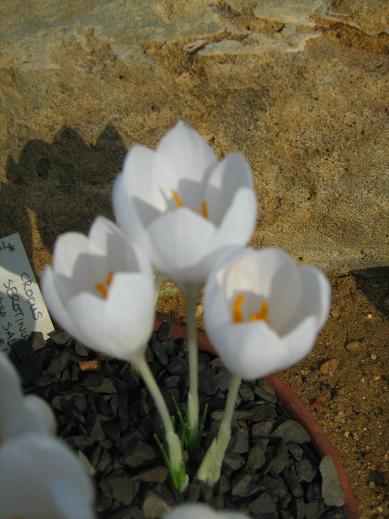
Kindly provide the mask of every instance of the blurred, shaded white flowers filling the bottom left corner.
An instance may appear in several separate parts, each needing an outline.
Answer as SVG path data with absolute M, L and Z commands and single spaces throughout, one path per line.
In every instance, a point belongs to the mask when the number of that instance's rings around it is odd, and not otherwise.
M 0 519 L 93 519 L 94 489 L 55 418 L 0 353 Z

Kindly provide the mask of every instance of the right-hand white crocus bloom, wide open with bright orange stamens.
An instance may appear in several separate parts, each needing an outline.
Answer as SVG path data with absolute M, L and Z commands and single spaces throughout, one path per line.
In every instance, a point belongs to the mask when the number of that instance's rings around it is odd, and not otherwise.
M 243 249 L 206 285 L 205 326 L 234 375 L 255 379 L 305 357 L 329 312 L 324 274 L 280 249 Z

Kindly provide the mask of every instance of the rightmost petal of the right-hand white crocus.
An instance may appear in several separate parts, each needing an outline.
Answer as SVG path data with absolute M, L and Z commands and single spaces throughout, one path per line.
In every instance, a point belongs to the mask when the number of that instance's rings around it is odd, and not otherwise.
M 331 285 L 326 276 L 319 269 L 309 266 L 300 267 L 299 273 L 302 284 L 299 304 L 280 329 L 282 335 L 296 328 L 308 316 L 316 318 L 319 331 L 329 314 Z

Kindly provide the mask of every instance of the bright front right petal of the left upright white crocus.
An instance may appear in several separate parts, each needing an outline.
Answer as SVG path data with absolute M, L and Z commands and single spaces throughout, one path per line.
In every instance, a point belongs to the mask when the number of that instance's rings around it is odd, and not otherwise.
M 151 277 L 123 273 L 114 276 L 104 316 L 110 348 L 106 353 L 128 361 L 145 349 L 153 330 L 155 299 Z

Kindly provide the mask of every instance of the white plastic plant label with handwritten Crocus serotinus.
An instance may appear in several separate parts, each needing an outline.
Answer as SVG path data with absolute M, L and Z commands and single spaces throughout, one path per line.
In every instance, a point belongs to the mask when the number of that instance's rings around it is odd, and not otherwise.
M 0 351 L 31 332 L 54 330 L 18 233 L 0 238 Z

